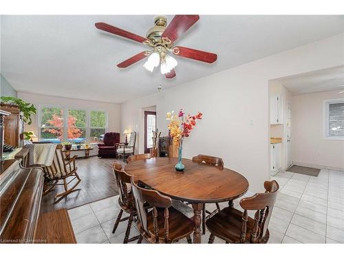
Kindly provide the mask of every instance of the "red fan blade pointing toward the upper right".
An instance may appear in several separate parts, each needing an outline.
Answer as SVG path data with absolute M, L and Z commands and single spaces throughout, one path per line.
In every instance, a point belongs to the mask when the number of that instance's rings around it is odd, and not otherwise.
M 168 38 L 172 42 L 176 41 L 199 19 L 198 15 L 175 15 L 162 33 L 162 38 Z

